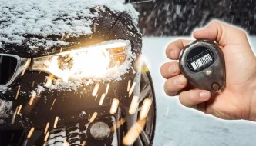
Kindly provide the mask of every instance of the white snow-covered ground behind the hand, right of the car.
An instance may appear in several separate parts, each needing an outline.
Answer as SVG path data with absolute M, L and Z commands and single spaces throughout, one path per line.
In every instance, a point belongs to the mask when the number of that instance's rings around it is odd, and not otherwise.
M 170 61 L 165 48 L 177 38 L 143 38 L 143 56 L 153 78 L 157 97 L 157 129 L 154 146 L 254 146 L 256 122 L 224 121 L 200 111 L 184 108 L 177 97 L 168 97 L 163 91 L 164 79 L 160 65 Z M 256 53 L 256 37 L 251 37 Z

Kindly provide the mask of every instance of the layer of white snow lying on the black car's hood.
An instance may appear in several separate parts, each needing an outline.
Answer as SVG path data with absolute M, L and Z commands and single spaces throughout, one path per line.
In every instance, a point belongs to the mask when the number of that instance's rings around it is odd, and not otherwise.
M 112 12 L 129 12 L 137 25 L 138 12 L 123 0 L 1 0 L 0 49 L 5 45 L 25 45 L 31 50 L 45 50 L 54 46 L 69 45 L 69 42 L 46 40 L 51 35 L 71 37 L 92 34 L 92 18 L 109 8 Z M 95 11 L 91 11 L 93 10 Z M 25 37 L 27 35 L 35 37 Z M 5 48 L 8 49 L 8 48 Z M 7 50 L 8 51 L 8 50 Z

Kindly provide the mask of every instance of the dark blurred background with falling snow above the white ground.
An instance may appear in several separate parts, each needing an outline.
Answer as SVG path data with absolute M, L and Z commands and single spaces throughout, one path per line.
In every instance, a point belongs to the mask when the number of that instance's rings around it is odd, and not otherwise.
M 256 35 L 255 0 L 152 0 L 135 8 L 144 36 L 190 35 L 213 18 Z

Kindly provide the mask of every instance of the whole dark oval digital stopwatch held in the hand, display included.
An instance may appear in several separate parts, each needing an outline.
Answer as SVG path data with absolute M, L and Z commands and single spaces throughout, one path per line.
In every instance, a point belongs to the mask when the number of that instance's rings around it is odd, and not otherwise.
M 196 40 L 180 52 L 180 71 L 196 88 L 217 92 L 224 87 L 225 61 L 213 41 Z

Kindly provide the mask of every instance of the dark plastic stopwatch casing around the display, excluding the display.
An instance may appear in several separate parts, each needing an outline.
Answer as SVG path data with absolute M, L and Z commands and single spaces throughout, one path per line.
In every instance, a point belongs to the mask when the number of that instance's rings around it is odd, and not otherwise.
M 192 49 L 196 49 L 197 47 L 207 47 L 210 48 L 214 53 L 214 63 L 209 66 L 213 73 L 210 76 L 204 74 L 208 68 L 204 68 L 204 70 L 199 72 L 190 71 L 187 66 L 187 55 Z M 211 91 L 212 93 L 216 92 L 212 87 L 214 84 L 219 85 L 219 90 L 224 87 L 225 79 L 226 79 L 226 69 L 225 69 L 225 61 L 224 55 L 221 51 L 221 48 L 209 40 L 196 40 L 185 46 L 182 51 L 180 51 L 180 59 L 179 59 L 180 71 L 187 78 L 191 85 L 194 85 L 196 88 L 204 89 L 207 91 Z

